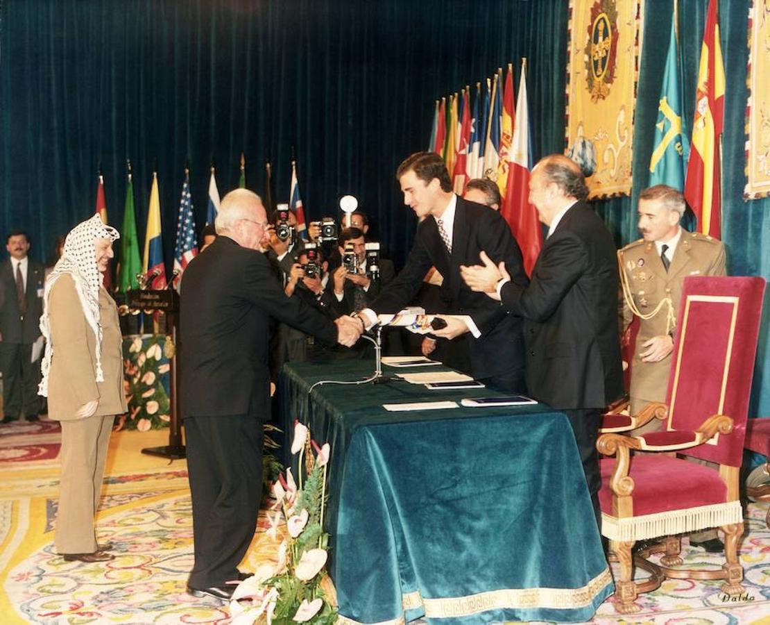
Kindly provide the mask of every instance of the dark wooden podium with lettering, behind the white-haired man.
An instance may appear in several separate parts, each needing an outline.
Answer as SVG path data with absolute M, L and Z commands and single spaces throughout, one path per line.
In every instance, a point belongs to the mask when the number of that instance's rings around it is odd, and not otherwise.
M 166 327 L 169 328 L 174 344 L 174 354 L 169 356 L 169 406 L 171 415 L 169 421 L 169 444 L 160 447 L 146 447 L 143 454 L 159 455 L 169 460 L 179 460 L 186 457 L 185 446 L 182 444 L 182 421 L 179 417 L 179 396 L 177 384 L 176 361 L 179 356 L 177 329 L 179 326 L 179 294 L 173 289 L 156 291 L 152 289 L 132 290 L 128 293 L 128 307 L 136 311 L 163 312 L 166 314 Z

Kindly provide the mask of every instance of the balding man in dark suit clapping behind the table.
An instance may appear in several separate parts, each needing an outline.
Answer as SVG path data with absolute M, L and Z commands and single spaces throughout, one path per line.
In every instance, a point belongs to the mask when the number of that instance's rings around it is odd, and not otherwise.
M 619 281 L 614 241 L 586 197 L 580 168 L 561 154 L 546 156 L 530 177 L 529 201 L 549 230 L 529 286 L 486 254 L 484 267 L 463 267 L 462 275 L 524 317 L 529 393 L 570 419 L 601 528 L 596 438 L 602 409 L 623 395 Z

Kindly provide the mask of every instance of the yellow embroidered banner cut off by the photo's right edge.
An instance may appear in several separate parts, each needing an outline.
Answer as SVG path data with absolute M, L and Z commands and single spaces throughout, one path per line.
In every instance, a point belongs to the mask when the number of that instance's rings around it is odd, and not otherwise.
M 755 0 L 748 13 L 746 186 L 743 196 L 770 196 L 770 2 Z

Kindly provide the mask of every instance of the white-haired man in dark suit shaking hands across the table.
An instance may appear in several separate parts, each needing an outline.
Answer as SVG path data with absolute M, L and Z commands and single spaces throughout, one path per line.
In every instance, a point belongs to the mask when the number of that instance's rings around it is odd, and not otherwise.
M 194 596 L 228 600 L 256 527 L 262 492 L 263 422 L 269 417 L 269 318 L 326 344 L 353 344 L 360 324 L 330 321 L 286 297 L 259 252 L 267 217 L 259 196 L 228 193 L 216 240 L 182 274 L 182 418 L 192 494 Z

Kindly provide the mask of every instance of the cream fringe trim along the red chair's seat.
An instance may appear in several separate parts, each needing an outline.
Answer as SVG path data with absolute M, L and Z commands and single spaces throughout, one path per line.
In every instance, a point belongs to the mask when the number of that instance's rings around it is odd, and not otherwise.
M 741 523 L 742 520 L 743 509 L 739 501 L 620 519 L 602 512 L 601 533 L 608 539 L 628 543 L 632 540 L 671 536 L 695 532 L 698 529 Z

